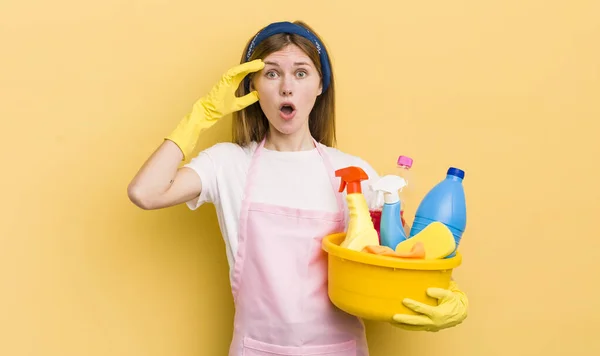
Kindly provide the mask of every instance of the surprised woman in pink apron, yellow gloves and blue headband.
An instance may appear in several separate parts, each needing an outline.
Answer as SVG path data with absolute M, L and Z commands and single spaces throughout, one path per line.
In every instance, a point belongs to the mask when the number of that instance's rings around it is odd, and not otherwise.
M 328 299 L 320 248 L 348 218 L 334 171 L 359 166 L 377 178 L 365 161 L 332 147 L 334 96 L 321 39 L 302 22 L 273 23 L 253 36 L 241 64 L 194 104 L 129 186 L 143 209 L 215 205 L 236 307 L 230 355 L 368 355 L 362 321 Z M 229 113 L 234 142 L 179 168 L 199 134 Z M 466 317 L 466 297 L 454 283 L 431 293 L 440 305 L 406 300 L 423 314 L 391 322 L 435 331 Z

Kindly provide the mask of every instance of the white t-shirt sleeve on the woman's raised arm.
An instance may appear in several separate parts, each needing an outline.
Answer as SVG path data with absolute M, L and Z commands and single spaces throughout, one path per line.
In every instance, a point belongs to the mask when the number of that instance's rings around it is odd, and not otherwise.
M 218 196 L 217 167 L 213 158 L 215 146 L 201 151 L 196 157 L 185 164 L 184 167 L 192 169 L 200 177 L 202 191 L 197 199 L 186 202 L 191 210 L 196 210 L 204 203 L 213 203 Z

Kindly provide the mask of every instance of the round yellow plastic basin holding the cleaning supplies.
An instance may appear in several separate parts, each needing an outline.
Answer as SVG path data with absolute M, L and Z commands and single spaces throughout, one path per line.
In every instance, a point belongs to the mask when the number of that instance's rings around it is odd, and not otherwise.
M 402 304 L 404 298 L 437 305 L 427 288 L 447 288 L 452 269 L 462 262 L 458 252 L 447 259 L 417 260 L 353 251 L 339 246 L 345 237 L 338 233 L 323 238 L 322 248 L 329 254 L 329 299 L 367 320 L 389 322 L 397 313 L 415 314 Z

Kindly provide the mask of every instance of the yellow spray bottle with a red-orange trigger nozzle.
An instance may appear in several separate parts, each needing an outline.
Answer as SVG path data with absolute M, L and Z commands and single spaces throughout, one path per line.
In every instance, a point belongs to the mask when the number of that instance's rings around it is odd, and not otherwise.
M 369 245 L 379 245 L 377 231 L 369 215 L 367 200 L 362 194 L 361 181 L 369 176 L 360 167 L 350 166 L 335 171 L 335 176 L 341 178 L 340 192 L 346 189 L 348 203 L 348 229 L 346 238 L 340 245 L 355 251 L 362 251 Z

